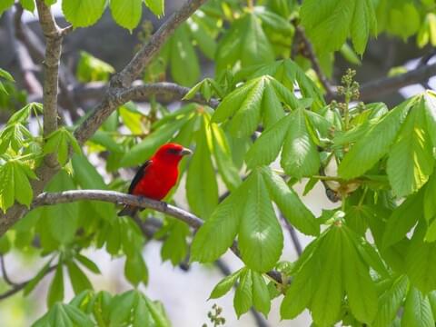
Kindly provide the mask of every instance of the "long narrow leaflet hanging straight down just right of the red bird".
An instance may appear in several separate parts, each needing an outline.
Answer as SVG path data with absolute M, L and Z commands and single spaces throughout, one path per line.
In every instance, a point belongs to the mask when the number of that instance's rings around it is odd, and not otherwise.
M 218 185 L 208 141 L 211 140 L 209 119 L 203 115 L 201 129 L 197 132 L 197 146 L 189 164 L 186 177 L 186 196 L 189 206 L 203 219 L 213 213 L 218 204 Z M 201 195 L 200 195 L 201 194 Z

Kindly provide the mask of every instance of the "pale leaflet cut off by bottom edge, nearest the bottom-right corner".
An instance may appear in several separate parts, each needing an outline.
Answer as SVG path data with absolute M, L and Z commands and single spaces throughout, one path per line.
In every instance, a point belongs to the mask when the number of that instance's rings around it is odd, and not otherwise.
M 434 326 L 429 298 L 414 287 L 407 294 L 404 312 L 401 317 L 401 326 Z

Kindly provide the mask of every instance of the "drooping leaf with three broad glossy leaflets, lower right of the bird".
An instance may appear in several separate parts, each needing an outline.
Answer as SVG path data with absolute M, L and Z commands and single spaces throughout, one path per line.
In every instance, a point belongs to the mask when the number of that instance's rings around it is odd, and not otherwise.
M 223 203 L 218 204 L 193 239 L 192 260 L 213 262 L 238 234 L 244 263 L 266 272 L 282 253 L 282 230 L 272 209 L 277 203 L 291 223 L 307 234 L 318 234 L 319 225 L 298 196 L 267 168 L 256 168 Z M 221 232 L 220 232 L 221 231 Z

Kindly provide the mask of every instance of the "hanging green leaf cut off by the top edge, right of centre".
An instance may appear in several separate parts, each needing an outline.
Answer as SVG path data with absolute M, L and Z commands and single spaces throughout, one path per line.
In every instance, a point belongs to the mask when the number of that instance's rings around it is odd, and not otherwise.
M 372 0 L 304 1 L 302 25 L 320 52 L 341 49 L 351 35 L 354 49 L 362 54 L 377 21 Z

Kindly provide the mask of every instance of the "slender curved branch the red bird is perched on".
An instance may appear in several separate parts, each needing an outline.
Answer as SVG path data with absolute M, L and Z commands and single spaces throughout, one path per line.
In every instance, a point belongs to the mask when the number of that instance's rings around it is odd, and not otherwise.
M 53 205 L 58 203 L 72 203 L 75 201 L 104 201 L 108 203 L 118 203 L 134 205 L 139 208 L 153 209 L 160 213 L 165 213 L 172 216 L 173 218 L 179 219 L 183 223 L 187 223 L 193 229 L 197 230 L 203 225 L 203 220 L 198 218 L 193 213 L 189 213 L 173 206 L 168 203 L 163 203 L 161 201 L 156 201 L 152 199 L 145 198 L 143 196 L 135 196 L 131 194 L 119 193 L 114 191 L 100 191 L 100 190 L 73 190 L 64 191 L 59 193 L 41 193 L 36 196 L 34 202 L 32 203 L 32 208 L 43 205 Z M 239 257 L 237 244 L 233 243 L 231 247 L 233 253 Z M 266 272 L 272 279 L 276 282 L 282 282 L 282 275 L 280 272 L 271 271 Z

